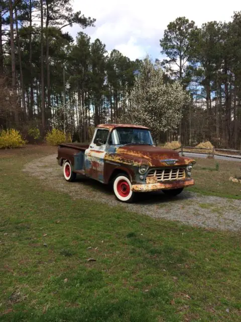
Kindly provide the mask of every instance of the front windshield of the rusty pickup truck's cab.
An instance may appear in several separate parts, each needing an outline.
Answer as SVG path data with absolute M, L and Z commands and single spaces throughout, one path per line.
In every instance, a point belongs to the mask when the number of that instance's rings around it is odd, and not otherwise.
M 114 144 L 150 144 L 154 145 L 151 132 L 145 129 L 119 127 L 113 130 L 110 145 Z

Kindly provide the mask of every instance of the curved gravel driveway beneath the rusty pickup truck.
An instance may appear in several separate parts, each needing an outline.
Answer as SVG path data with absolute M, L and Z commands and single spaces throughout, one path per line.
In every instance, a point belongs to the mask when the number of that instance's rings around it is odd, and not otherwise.
M 72 198 L 94 198 L 110 206 L 193 226 L 241 230 L 241 200 L 202 196 L 184 190 L 172 199 L 162 192 L 140 193 L 134 204 L 124 204 L 115 199 L 109 187 L 97 181 L 80 177 L 74 183 L 66 182 L 56 154 L 34 160 L 23 171 L 42 180 L 45 186 L 68 193 Z

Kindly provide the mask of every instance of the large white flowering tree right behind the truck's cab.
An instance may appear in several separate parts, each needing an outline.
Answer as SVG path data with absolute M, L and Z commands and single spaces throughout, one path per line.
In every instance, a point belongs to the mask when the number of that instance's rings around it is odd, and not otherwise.
M 160 63 L 147 56 L 136 75 L 129 99 L 124 121 L 148 126 L 157 138 L 160 132 L 177 128 L 181 107 L 189 102 L 190 97 L 179 82 L 164 84 Z

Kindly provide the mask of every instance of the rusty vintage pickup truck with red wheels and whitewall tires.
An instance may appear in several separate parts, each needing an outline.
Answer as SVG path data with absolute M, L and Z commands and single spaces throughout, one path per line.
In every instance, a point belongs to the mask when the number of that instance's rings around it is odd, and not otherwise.
M 111 184 L 116 198 L 123 202 L 132 202 L 136 192 L 162 190 L 176 196 L 194 185 L 191 170 L 195 160 L 155 146 L 145 126 L 100 124 L 90 145 L 59 144 L 57 160 L 65 180 L 74 181 L 80 174 Z

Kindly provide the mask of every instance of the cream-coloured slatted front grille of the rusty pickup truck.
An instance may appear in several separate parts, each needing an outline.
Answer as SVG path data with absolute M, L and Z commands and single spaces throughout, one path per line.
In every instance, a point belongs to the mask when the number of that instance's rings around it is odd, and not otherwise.
M 174 169 L 152 169 L 149 171 L 147 177 L 157 177 L 157 181 L 169 181 L 185 178 L 184 168 Z

